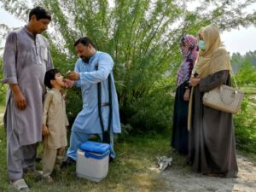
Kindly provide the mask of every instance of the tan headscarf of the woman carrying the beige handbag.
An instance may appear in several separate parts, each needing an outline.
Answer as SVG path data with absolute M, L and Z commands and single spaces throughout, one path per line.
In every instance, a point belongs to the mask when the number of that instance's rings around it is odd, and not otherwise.
M 208 75 L 217 73 L 222 70 L 232 71 L 230 65 L 230 55 L 223 47 L 220 41 L 218 27 L 215 25 L 209 25 L 201 28 L 197 32 L 203 38 L 206 44 L 205 50 L 199 51 L 198 61 L 195 63 L 192 75 L 198 73 L 198 78 L 205 78 Z M 192 96 L 193 88 L 191 90 L 189 99 L 189 118 L 188 118 L 188 129 L 191 127 L 191 111 L 192 111 Z

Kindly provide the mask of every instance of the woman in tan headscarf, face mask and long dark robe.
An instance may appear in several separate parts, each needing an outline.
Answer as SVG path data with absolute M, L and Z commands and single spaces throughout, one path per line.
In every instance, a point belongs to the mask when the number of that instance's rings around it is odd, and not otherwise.
M 195 172 L 236 177 L 232 114 L 202 103 L 205 92 L 221 84 L 231 84 L 230 56 L 221 44 L 217 26 L 203 27 L 197 35 L 200 53 L 190 79 L 193 88 L 189 101 L 189 162 Z

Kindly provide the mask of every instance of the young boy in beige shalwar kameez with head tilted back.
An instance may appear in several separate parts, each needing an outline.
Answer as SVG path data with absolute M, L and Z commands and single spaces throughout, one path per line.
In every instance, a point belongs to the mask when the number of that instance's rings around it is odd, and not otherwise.
M 68 125 L 66 106 L 62 94 L 65 83 L 57 69 L 45 73 L 44 84 L 50 89 L 44 97 L 43 136 L 44 153 L 42 159 L 43 178 L 46 183 L 53 183 L 50 177 L 53 168 L 61 164 L 67 146 Z

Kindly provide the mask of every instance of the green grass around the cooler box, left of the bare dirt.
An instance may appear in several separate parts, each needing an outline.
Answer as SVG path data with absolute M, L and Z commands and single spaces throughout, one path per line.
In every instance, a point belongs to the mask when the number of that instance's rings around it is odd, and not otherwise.
M 0 125 L 0 191 L 14 191 L 9 185 L 6 168 L 6 139 L 3 124 Z M 170 153 L 169 137 L 126 137 L 116 143 L 117 159 L 109 164 L 108 177 L 100 183 L 90 182 L 76 177 L 75 166 L 53 172 L 55 183 L 47 185 L 41 179 L 25 175 L 27 184 L 32 191 L 91 191 L 91 192 L 128 192 L 128 191 L 160 191 L 164 181 L 158 177 L 155 162 L 156 156 Z M 42 155 L 42 144 L 38 156 Z M 41 163 L 38 163 L 38 169 Z

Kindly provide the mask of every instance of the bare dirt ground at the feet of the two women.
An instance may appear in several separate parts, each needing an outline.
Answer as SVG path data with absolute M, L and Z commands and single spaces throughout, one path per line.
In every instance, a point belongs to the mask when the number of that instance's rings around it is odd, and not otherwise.
M 170 166 L 159 174 L 166 187 L 158 192 L 256 192 L 256 165 L 241 155 L 237 160 L 236 178 L 206 177 L 191 172 L 189 166 Z

